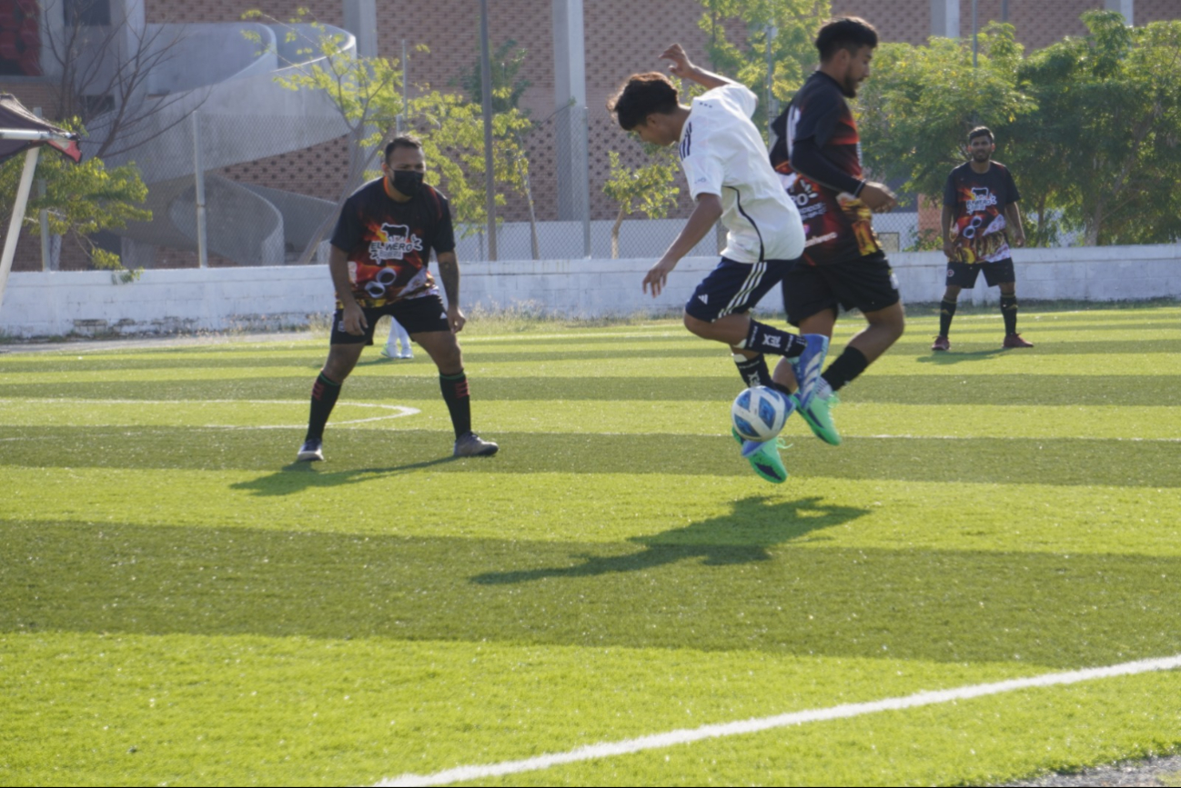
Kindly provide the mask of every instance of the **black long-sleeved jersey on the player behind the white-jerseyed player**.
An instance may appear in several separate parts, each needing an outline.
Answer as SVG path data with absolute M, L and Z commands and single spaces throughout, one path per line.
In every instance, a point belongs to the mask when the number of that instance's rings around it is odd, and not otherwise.
M 814 72 L 771 130 L 771 165 L 804 223 L 803 261 L 822 265 L 880 254 L 869 208 L 856 197 L 861 138 L 840 84 Z M 822 157 L 826 166 L 816 169 L 824 172 L 807 171 L 801 151 Z

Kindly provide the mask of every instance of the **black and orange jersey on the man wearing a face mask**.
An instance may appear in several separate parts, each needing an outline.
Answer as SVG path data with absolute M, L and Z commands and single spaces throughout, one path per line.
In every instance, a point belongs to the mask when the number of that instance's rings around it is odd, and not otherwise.
M 451 208 L 426 184 L 399 203 L 378 178 L 345 201 L 332 245 L 348 256 L 353 297 L 361 307 L 438 294 L 428 263 L 432 249 L 436 255 L 455 249 Z

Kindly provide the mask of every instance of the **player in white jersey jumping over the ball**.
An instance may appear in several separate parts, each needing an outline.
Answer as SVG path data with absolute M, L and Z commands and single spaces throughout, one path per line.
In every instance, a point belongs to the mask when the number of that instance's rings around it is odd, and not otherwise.
M 766 145 L 751 122 L 758 99 L 744 85 L 690 63 L 679 44 L 660 55 L 670 71 L 706 88 L 690 105 L 659 72 L 632 74 L 607 103 L 625 131 L 657 145 L 678 145 L 693 212 L 677 239 L 644 277 L 644 290 L 658 296 L 680 258 L 722 221 L 726 248 L 722 262 L 697 285 L 685 304 L 685 328 L 731 347 L 748 386 L 771 386 L 764 353 L 789 359 L 797 369 L 800 398 L 810 401 L 818 383 L 828 339 L 797 336 L 750 317 L 750 309 L 779 284 L 803 254 L 804 230 L 795 204 L 771 169 Z M 794 407 L 787 389 L 779 389 Z M 743 454 L 769 481 L 787 472 L 776 441 L 748 442 Z

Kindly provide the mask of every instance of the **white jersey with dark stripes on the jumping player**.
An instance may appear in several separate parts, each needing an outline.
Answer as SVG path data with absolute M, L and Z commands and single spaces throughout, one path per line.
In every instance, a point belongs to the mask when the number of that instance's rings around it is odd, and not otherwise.
M 733 83 L 693 99 L 680 131 L 680 165 L 693 199 L 703 193 L 722 199 L 729 230 L 724 257 L 795 260 L 804 251 L 804 229 L 750 120 L 757 105 L 745 85 Z

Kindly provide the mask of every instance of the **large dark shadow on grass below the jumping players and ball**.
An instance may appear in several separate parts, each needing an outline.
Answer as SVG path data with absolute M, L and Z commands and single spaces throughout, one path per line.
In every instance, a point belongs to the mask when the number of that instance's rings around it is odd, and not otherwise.
M 798 540 L 814 531 L 843 525 L 868 514 L 867 508 L 823 504 L 821 498 L 768 504 L 763 495 L 735 504 L 733 512 L 628 541 L 644 545 L 627 556 L 580 554 L 581 564 L 542 569 L 485 572 L 471 578 L 479 585 L 527 583 L 547 577 L 593 577 L 611 572 L 639 572 L 681 560 L 700 559 L 703 566 L 731 566 L 771 560 L 769 547 Z

